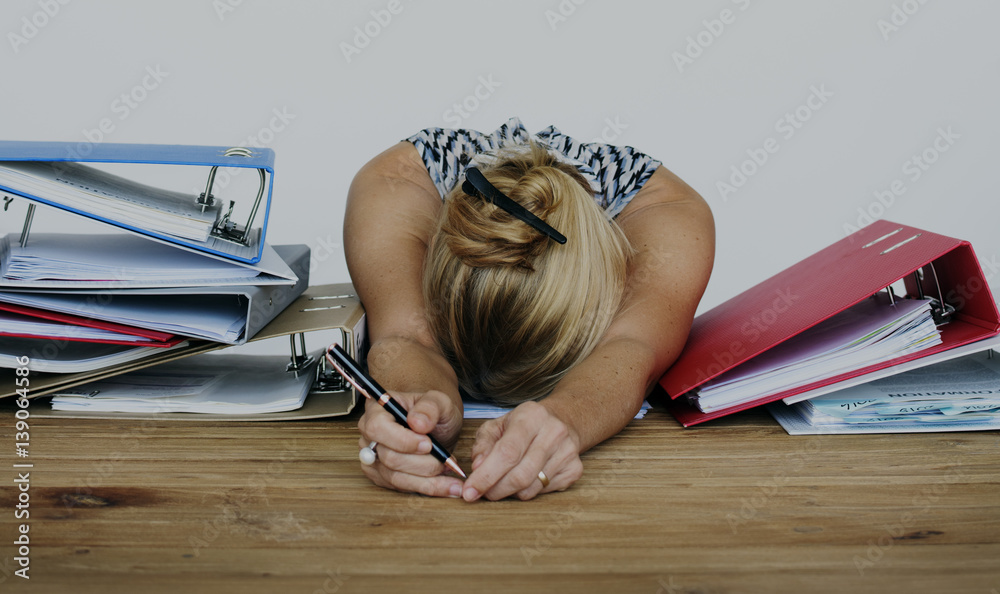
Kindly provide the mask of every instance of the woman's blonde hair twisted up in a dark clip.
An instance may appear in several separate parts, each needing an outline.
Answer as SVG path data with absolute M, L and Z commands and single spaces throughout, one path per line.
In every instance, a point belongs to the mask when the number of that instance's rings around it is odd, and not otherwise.
M 459 386 L 514 405 L 547 396 L 594 350 L 632 252 L 583 176 L 540 145 L 501 152 L 481 171 L 568 239 L 557 244 L 458 184 L 428 247 L 428 320 Z

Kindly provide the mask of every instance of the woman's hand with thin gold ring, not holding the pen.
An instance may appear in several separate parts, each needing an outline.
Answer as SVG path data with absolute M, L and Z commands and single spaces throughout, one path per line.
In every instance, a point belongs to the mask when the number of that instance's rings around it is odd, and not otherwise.
M 472 446 L 472 474 L 462 496 L 496 501 L 512 495 L 527 500 L 562 491 L 583 475 L 579 438 L 538 402 L 525 402 L 483 423 Z M 539 473 L 549 483 L 543 485 Z

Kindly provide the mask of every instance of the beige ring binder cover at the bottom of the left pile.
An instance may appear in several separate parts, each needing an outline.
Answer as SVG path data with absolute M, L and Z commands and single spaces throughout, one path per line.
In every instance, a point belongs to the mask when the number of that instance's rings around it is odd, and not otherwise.
M 52 411 L 44 402 L 45 395 L 58 390 L 80 386 L 128 371 L 145 369 L 168 361 L 180 361 L 192 355 L 226 347 L 226 345 L 215 342 L 192 340 L 187 346 L 120 366 L 73 374 L 32 374 L 30 376 L 30 398 L 33 399 L 31 416 L 170 421 L 283 421 L 345 415 L 351 412 L 357 403 L 357 394 L 354 389 L 342 381 L 335 371 L 326 369 L 322 361 L 318 363 L 310 361 L 304 348 L 305 334 L 338 329 L 343 336 L 342 345 L 344 348 L 355 358 L 363 360 L 367 351 L 365 313 L 354 287 L 350 283 L 309 287 L 250 340 L 250 342 L 256 342 L 287 336 L 292 345 L 287 371 L 294 374 L 310 365 L 315 368 L 316 378 L 312 391 L 306 398 L 303 407 L 297 410 L 256 415 L 87 413 L 82 411 Z M 17 383 L 14 370 L 0 369 L 0 400 L 16 395 Z M 42 398 L 43 401 L 39 403 L 34 400 L 36 398 Z

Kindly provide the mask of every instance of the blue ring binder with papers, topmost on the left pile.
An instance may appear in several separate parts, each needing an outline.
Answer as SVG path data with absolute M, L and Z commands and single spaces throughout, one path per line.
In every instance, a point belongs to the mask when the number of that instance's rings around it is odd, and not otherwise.
M 205 191 L 198 196 L 183 196 L 177 192 L 158 190 L 142 186 L 133 180 L 98 172 L 88 163 L 124 163 L 145 165 L 189 165 L 206 168 L 207 183 Z M 216 199 L 212 193 L 216 171 L 219 167 L 238 167 L 257 170 L 260 186 L 253 202 L 246 223 L 233 220 L 232 212 L 235 201 L 228 206 Z M 0 182 L 0 192 L 20 196 L 33 203 L 45 204 L 96 221 L 114 225 L 133 233 L 138 233 L 152 239 L 176 245 L 185 249 L 210 254 L 247 264 L 256 264 L 261 259 L 266 237 L 268 217 L 271 206 L 271 195 L 274 186 L 274 151 L 268 148 L 243 147 L 211 147 L 188 145 L 150 145 L 150 144 L 120 144 L 101 143 L 87 146 L 86 152 L 78 150 L 76 143 L 70 142 L 17 142 L 0 141 L 0 175 L 9 168 L 9 179 L 3 177 Z M 65 190 L 67 196 L 75 196 L 80 192 L 97 196 L 99 201 L 107 201 L 115 205 L 114 211 L 104 209 L 95 212 L 97 208 L 89 208 L 85 204 L 96 204 L 94 201 L 74 202 L 60 197 L 61 192 L 40 191 L 39 180 L 48 182 L 45 188 L 56 187 Z M 16 183 L 15 183 L 16 182 Z M 119 192 L 120 189 L 129 189 Z M 57 196 L 56 194 L 60 194 Z M 129 195 L 128 199 L 123 196 Z M 153 196 L 155 196 L 155 201 Z M 118 202 L 115 202 L 118 200 Z M 140 204 L 148 200 L 149 203 Z M 140 206 L 158 207 L 145 212 Z M 184 233 L 167 233 L 149 225 L 129 218 L 119 212 L 117 207 L 131 209 L 129 212 L 142 213 L 156 218 L 162 215 L 164 221 L 170 221 L 177 215 L 196 217 L 198 222 L 205 223 L 208 228 L 204 233 L 191 231 Z M 139 208 L 138 210 L 136 210 Z M 27 235 L 31 224 L 29 210 L 25 222 Z M 263 221 L 254 226 L 258 212 Z M 164 225 L 167 223 L 164 222 Z

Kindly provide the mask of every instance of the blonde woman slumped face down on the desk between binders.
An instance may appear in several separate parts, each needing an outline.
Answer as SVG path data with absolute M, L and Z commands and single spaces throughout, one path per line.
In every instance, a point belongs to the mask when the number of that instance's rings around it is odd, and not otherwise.
M 624 428 L 680 354 L 714 257 L 708 206 L 659 162 L 516 118 L 490 135 L 423 130 L 375 157 L 351 184 L 344 239 L 369 370 L 409 411 L 406 429 L 366 402 L 360 444 L 378 459 L 364 472 L 467 501 L 579 479 L 580 454 Z M 515 405 L 480 427 L 464 483 L 427 455 L 428 434 L 454 446 L 461 391 Z

